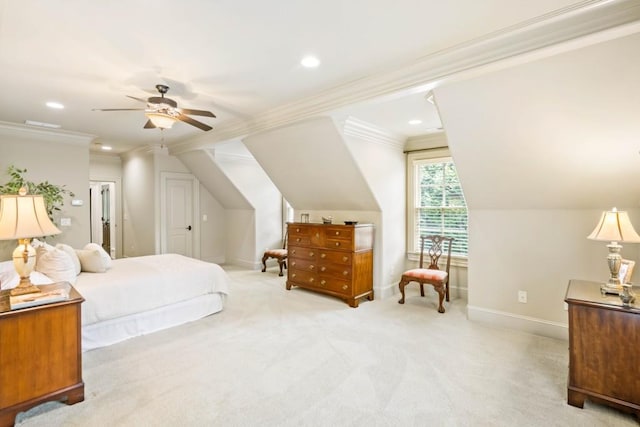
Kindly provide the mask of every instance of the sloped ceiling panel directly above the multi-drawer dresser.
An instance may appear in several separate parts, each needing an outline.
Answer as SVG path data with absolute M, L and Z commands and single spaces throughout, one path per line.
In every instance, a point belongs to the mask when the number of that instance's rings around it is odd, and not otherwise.
M 379 210 L 332 118 L 303 120 L 243 142 L 295 209 Z

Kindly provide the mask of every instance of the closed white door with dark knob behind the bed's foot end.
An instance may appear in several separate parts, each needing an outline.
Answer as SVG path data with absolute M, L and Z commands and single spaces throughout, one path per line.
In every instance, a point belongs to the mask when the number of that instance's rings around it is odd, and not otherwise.
M 193 255 L 193 179 L 167 178 L 166 252 Z

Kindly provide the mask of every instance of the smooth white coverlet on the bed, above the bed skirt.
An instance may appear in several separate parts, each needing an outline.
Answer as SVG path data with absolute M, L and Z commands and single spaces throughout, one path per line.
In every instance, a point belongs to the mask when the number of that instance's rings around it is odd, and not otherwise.
M 106 273 L 81 273 L 74 286 L 85 299 L 83 327 L 229 292 L 219 265 L 176 254 L 116 259 Z

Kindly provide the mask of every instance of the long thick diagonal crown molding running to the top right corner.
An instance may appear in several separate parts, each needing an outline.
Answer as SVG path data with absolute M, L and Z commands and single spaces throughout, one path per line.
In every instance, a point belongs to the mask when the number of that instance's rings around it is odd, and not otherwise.
M 631 25 L 633 24 L 633 25 Z M 304 99 L 273 108 L 249 120 L 231 120 L 215 130 L 172 144 L 172 153 L 210 147 L 228 139 L 327 114 L 351 104 L 398 93 L 430 90 L 444 80 L 510 58 L 558 53 L 640 31 L 639 0 L 586 0 L 534 19 L 425 55 L 390 72 L 363 77 Z M 600 37 L 595 33 L 611 31 Z M 579 43 L 576 40 L 582 39 Z M 567 43 L 572 42 L 572 43 Z M 548 49 L 546 52 L 543 52 Z

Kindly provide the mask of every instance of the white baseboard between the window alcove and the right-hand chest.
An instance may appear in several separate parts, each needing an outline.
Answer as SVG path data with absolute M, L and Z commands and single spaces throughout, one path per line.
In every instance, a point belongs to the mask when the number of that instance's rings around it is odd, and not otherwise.
M 558 322 L 472 305 L 467 305 L 467 317 L 473 322 L 485 323 L 505 329 L 515 329 L 565 341 L 569 340 L 567 325 Z

